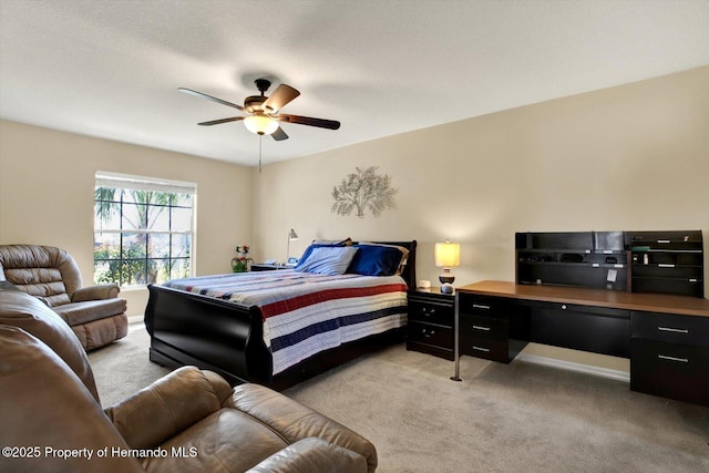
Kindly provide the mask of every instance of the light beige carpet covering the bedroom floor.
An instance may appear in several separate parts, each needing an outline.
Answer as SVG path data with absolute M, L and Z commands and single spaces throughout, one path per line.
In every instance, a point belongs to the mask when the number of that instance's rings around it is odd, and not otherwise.
M 166 371 L 147 345 L 141 327 L 91 353 L 104 405 Z M 452 372 L 399 345 L 286 394 L 371 440 L 382 473 L 709 471 L 709 408 L 518 361 L 464 357 L 463 381 Z

